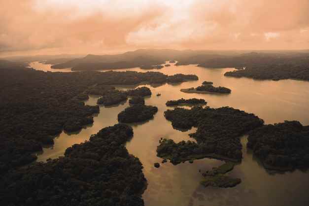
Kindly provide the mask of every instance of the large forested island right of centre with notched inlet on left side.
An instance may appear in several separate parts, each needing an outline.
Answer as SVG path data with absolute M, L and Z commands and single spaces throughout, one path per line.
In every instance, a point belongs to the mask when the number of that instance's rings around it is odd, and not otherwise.
M 164 112 L 174 128 L 190 129 L 197 127 L 197 132 L 190 134 L 197 140 L 175 144 L 162 141 L 158 146 L 158 156 L 179 163 L 196 156 L 213 157 L 229 161 L 240 161 L 240 136 L 261 127 L 264 121 L 254 114 L 249 114 L 231 107 L 191 109 L 176 107 Z

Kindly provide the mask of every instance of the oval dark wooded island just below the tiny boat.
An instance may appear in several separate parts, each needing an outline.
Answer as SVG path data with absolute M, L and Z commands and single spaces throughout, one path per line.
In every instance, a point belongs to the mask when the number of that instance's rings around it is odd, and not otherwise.
M 157 112 L 156 106 L 134 104 L 118 114 L 118 121 L 121 123 L 143 122 L 153 118 Z

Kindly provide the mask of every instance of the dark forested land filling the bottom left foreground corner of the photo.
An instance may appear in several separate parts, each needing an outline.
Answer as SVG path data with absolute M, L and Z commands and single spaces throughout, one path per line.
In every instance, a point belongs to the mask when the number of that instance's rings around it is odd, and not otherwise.
M 144 206 L 146 179 L 124 143 L 130 126 L 106 127 L 64 157 L 1 176 L 1 206 Z

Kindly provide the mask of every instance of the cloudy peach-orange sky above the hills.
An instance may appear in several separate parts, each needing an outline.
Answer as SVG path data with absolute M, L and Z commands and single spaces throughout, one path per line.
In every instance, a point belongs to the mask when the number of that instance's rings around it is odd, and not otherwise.
M 0 56 L 309 49 L 309 0 L 0 0 Z

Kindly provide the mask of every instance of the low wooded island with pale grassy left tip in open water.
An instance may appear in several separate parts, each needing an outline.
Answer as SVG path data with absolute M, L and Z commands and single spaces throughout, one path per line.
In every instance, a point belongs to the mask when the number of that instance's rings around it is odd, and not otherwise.
M 204 83 L 204 82 L 203 82 Z M 211 84 L 203 84 L 197 88 L 181 89 L 184 93 L 201 93 L 201 94 L 230 94 L 231 90 L 226 87 L 214 87 Z

